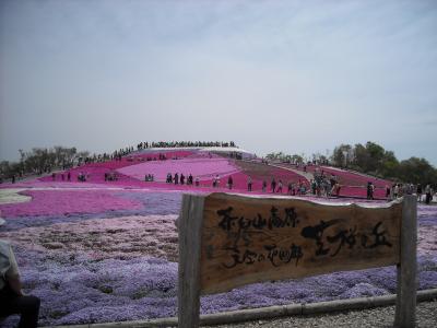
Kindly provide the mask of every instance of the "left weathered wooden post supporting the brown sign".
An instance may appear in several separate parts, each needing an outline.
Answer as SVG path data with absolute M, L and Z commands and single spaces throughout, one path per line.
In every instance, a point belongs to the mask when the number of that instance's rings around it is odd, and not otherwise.
M 204 197 L 184 195 L 179 218 L 178 327 L 199 327 L 200 249 Z

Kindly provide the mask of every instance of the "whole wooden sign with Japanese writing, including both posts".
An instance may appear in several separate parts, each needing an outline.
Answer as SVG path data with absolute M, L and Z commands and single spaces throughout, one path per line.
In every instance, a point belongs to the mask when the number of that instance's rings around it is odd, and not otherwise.
M 179 220 L 179 327 L 199 326 L 201 293 L 391 265 L 398 266 L 394 324 L 414 327 L 414 196 L 361 207 L 228 194 L 184 195 Z

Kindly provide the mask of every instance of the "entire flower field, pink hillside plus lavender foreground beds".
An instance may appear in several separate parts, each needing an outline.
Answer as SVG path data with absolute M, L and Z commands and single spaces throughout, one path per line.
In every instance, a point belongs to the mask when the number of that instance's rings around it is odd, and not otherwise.
M 160 152 L 163 153 L 163 152 Z M 139 152 L 121 161 L 93 163 L 52 176 L 3 184 L 0 238 L 15 250 L 26 292 L 42 298 L 40 325 L 74 325 L 175 316 L 177 311 L 178 216 L 181 192 L 261 194 L 262 180 L 308 181 L 292 171 L 208 152 Z M 149 159 L 149 161 L 147 161 Z M 177 160 L 176 160 L 177 159 Z M 118 179 L 105 180 L 117 172 Z M 167 173 L 190 173 L 200 186 L 164 183 Z M 327 168 L 328 172 L 328 168 Z M 78 181 L 81 173 L 86 181 Z M 343 196 L 365 196 L 368 177 L 335 171 Z M 153 174 L 155 181 L 144 181 Z M 220 176 L 220 187 L 212 179 Z M 380 181 L 382 184 L 382 181 Z M 379 186 L 379 185 L 377 185 Z M 378 189 L 377 189 L 378 190 Z M 307 197 L 315 199 L 312 197 Z M 335 199 L 323 201 L 339 201 Z M 418 208 L 420 289 L 437 288 L 437 207 Z M 393 293 L 395 268 L 336 272 L 299 280 L 267 282 L 206 295 L 201 313 L 309 303 Z M 13 327 L 16 317 L 3 323 Z

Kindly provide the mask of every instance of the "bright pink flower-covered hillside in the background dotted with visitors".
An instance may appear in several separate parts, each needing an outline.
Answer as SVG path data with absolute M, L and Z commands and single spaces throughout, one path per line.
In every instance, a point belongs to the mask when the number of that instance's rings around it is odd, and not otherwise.
M 167 160 L 160 161 L 160 156 L 165 155 Z M 165 184 L 168 173 L 184 174 L 188 177 L 191 174 L 200 179 L 202 191 L 210 191 L 213 178 L 218 175 L 220 187 L 226 188 L 227 179 L 233 177 L 233 189 L 238 192 L 247 190 L 247 181 L 250 176 L 252 180 L 252 192 L 260 194 L 262 181 L 265 180 L 268 190 L 272 178 L 283 183 L 283 194 L 286 194 L 288 183 L 298 184 L 302 181 L 307 185 L 308 180 L 290 169 L 286 164 L 281 164 L 285 168 L 265 165 L 260 161 L 236 161 L 234 159 L 222 157 L 220 155 L 202 152 L 198 150 L 178 151 L 153 151 L 143 150 L 131 155 L 125 156 L 121 161 L 107 161 L 102 163 L 90 163 L 70 171 L 58 172 L 55 178 L 51 175 L 38 178 L 37 180 L 19 183 L 13 187 L 24 188 L 150 188 L 152 190 L 193 190 L 193 186 L 180 186 Z M 293 167 L 295 168 L 295 167 Z M 308 172 L 314 172 L 316 166 L 307 166 Z M 365 176 L 355 172 L 349 172 L 334 167 L 322 166 L 327 174 L 334 174 L 341 184 L 340 196 L 366 198 L 367 181 L 373 181 L 376 186 L 375 197 L 385 198 L 385 186 L 390 181 Z M 68 172 L 70 181 L 67 180 Z M 86 181 L 78 183 L 79 175 L 85 175 Z M 105 180 L 105 174 L 116 174 L 116 180 Z M 144 181 L 145 175 L 153 175 L 154 181 Z M 12 186 L 10 186 L 12 187 Z M 214 189 L 216 190 L 216 189 Z

